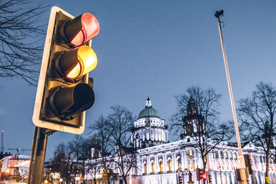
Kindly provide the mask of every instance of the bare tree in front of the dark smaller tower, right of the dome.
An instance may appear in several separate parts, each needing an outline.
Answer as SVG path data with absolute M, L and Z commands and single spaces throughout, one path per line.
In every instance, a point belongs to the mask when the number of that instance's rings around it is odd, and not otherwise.
M 208 153 L 221 141 L 230 140 L 234 135 L 230 121 L 218 123 L 221 94 L 217 94 L 212 88 L 204 90 L 196 85 L 188 88 L 186 94 L 175 96 L 175 99 L 177 112 L 171 116 L 171 127 L 175 133 L 186 129 L 181 134 L 181 139 L 193 137 L 193 146 L 199 149 L 205 172 Z

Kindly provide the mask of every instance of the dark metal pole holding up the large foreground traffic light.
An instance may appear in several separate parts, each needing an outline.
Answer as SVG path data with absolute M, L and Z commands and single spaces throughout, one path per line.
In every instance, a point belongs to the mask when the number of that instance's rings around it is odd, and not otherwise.
M 43 133 L 42 127 L 34 127 L 34 138 L 32 139 L 32 153 L 30 155 L 30 167 L 28 172 L 28 184 L 41 184 L 47 138 L 48 134 Z

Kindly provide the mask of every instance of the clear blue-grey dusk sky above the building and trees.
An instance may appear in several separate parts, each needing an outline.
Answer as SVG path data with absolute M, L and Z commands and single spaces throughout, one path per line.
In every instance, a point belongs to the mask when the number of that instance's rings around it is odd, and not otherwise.
M 111 105 L 124 105 L 138 116 L 148 96 L 168 125 L 176 109 L 174 96 L 186 92 L 191 85 L 214 88 L 222 94 L 220 121 L 232 120 L 214 16 L 217 10 L 224 10 L 222 32 L 236 108 L 237 101 L 250 96 L 260 81 L 276 87 L 276 1 L 66 0 L 50 3 L 75 17 L 90 12 L 100 24 L 100 32 L 92 40 L 98 57 L 97 68 L 90 72 L 94 78 L 95 104 L 86 112 L 84 137 L 89 136 L 88 126 L 95 119 L 110 113 Z M 39 20 L 48 24 L 49 16 L 50 8 Z M 44 40 L 41 39 L 41 44 Z M 31 149 L 37 88 L 21 79 L 10 78 L 1 78 L 0 86 L 0 129 L 5 132 L 5 151 L 15 154 L 16 151 L 7 149 Z M 53 157 L 55 146 L 68 143 L 73 136 L 66 132 L 50 135 L 46 160 Z M 30 152 L 21 154 L 30 155 Z

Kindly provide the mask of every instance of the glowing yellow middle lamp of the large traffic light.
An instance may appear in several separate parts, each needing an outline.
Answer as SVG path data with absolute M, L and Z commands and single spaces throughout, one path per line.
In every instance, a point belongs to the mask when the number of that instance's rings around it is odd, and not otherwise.
M 94 70 L 97 66 L 97 55 L 88 45 L 83 45 L 77 50 L 79 62 L 68 74 L 70 79 L 76 79 Z

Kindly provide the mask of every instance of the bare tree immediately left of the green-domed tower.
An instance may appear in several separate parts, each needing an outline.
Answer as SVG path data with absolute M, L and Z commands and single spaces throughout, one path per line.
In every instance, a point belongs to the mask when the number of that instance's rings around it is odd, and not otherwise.
M 126 177 L 130 170 L 135 166 L 135 150 L 130 147 L 130 128 L 134 121 L 132 112 L 128 111 L 122 105 L 111 107 L 112 113 L 108 116 L 108 131 L 110 134 L 110 143 L 115 145 L 115 158 L 124 183 L 127 183 Z

